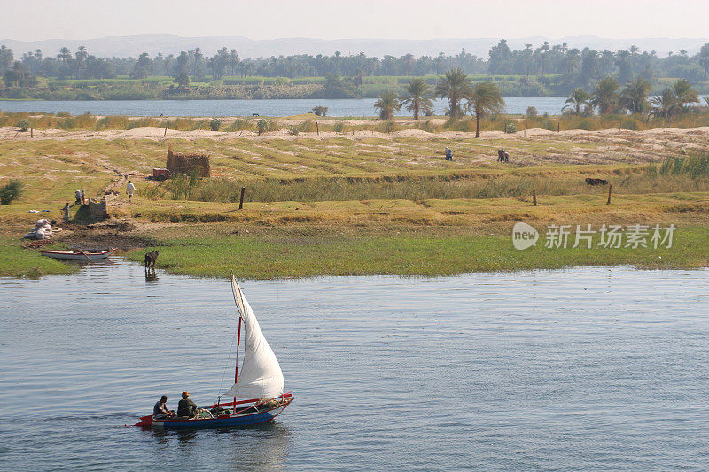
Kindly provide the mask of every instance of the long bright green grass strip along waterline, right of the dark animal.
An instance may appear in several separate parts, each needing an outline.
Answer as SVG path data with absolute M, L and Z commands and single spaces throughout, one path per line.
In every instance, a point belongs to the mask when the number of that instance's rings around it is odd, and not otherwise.
M 158 239 L 159 266 L 180 275 L 273 279 L 318 275 L 451 275 L 569 266 L 630 265 L 643 268 L 705 267 L 707 228 L 675 232 L 670 249 L 545 249 L 518 251 L 509 231 L 446 234 L 437 228 L 386 235 L 327 231 L 284 234 L 228 234 Z M 214 233 L 214 231 L 211 231 Z M 143 251 L 129 253 L 140 261 Z

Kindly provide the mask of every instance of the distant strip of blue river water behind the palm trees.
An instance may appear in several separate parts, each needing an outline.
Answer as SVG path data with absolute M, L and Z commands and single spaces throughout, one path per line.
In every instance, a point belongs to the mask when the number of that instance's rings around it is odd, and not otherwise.
M 505 97 L 505 112 L 525 113 L 534 106 L 540 114 L 560 114 L 566 97 Z M 313 107 L 327 106 L 330 116 L 374 116 L 375 98 L 356 99 L 279 99 L 279 100 L 102 100 L 102 101 L 43 101 L 0 100 L 0 110 L 5 112 L 69 112 L 79 115 L 127 116 L 292 116 L 307 113 Z M 448 103 L 437 99 L 434 112 L 442 115 Z M 400 116 L 411 113 L 401 109 Z

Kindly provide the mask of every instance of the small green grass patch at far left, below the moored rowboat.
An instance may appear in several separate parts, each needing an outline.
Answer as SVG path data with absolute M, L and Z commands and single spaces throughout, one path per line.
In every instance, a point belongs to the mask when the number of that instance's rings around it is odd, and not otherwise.
M 22 249 L 17 237 L 0 236 L 0 277 L 36 278 L 42 275 L 72 274 L 78 268 Z

